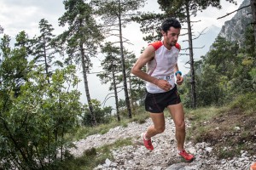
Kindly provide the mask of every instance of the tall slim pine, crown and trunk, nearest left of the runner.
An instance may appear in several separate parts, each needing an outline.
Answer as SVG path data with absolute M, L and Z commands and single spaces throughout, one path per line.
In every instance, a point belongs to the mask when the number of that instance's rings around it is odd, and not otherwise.
M 123 27 L 125 24 L 131 21 L 131 16 L 136 15 L 134 12 L 141 8 L 144 4 L 143 1 L 134 0 L 93 0 L 92 3 L 97 7 L 97 13 L 102 16 L 105 27 L 108 28 L 110 32 L 109 36 L 119 37 L 120 46 L 120 58 L 122 64 L 122 74 L 124 81 L 124 91 L 125 91 L 125 103 L 128 111 L 128 116 L 131 118 L 131 105 L 130 97 L 127 88 L 127 78 L 125 71 L 125 54 L 124 54 L 124 37 L 123 37 Z

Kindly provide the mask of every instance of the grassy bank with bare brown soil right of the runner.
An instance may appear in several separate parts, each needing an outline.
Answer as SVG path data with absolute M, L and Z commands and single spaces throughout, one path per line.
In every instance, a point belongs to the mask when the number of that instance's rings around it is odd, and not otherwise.
M 241 150 L 252 155 L 256 152 L 255 93 L 239 96 L 224 107 L 187 110 L 186 116 L 192 124 L 187 138 L 212 144 L 219 159 L 241 155 Z

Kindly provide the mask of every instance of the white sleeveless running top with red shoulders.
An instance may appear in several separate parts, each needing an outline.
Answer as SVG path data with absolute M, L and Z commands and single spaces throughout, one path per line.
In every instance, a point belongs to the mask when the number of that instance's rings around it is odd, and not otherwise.
M 167 49 L 163 42 L 152 42 L 155 49 L 154 59 L 147 63 L 147 73 L 151 77 L 167 80 L 172 88 L 175 86 L 174 67 L 177 64 L 177 57 L 180 51 L 180 45 L 176 43 L 171 50 Z M 159 88 L 151 82 L 146 83 L 147 91 L 151 94 L 164 93 L 165 90 Z

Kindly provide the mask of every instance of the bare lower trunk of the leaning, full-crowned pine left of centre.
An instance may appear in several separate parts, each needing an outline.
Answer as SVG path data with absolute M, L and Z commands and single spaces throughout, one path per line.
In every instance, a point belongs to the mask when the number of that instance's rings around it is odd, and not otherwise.
M 84 88 L 85 88 L 85 94 L 86 94 L 86 98 L 87 98 L 87 103 L 89 105 L 89 111 L 90 111 L 90 116 L 91 116 L 91 125 L 92 126 L 96 126 L 96 117 L 93 111 L 93 106 L 91 104 L 90 101 L 90 92 L 89 92 L 89 86 L 88 86 L 88 80 L 87 80 L 87 67 L 85 65 L 86 61 L 85 61 L 85 55 L 84 55 L 84 49 L 83 49 L 83 45 L 80 44 L 80 51 L 81 51 L 81 58 L 82 58 L 82 68 L 83 68 L 83 76 L 84 76 Z

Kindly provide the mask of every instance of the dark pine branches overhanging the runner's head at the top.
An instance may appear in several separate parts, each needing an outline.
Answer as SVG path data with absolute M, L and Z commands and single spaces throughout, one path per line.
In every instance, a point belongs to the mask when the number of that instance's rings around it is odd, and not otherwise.
M 196 15 L 198 11 L 202 11 L 209 6 L 215 8 L 221 8 L 218 0 L 207 0 L 207 1 L 181 1 L 181 0 L 158 0 L 160 9 L 163 12 L 155 14 L 152 12 L 143 13 L 139 16 L 133 16 L 132 20 L 136 21 L 141 25 L 141 31 L 146 37 L 143 39 L 147 42 L 160 41 L 160 25 L 163 20 L 168 17 L 178 18 L 181 22 L 186 21 L 190 15 Z M 236 3 L 233 0 L 229 0 L 230 3 Z M 188 11 L 187 11 L 188 9 Z M 189 16 L 188 16 L 189 13 Z

